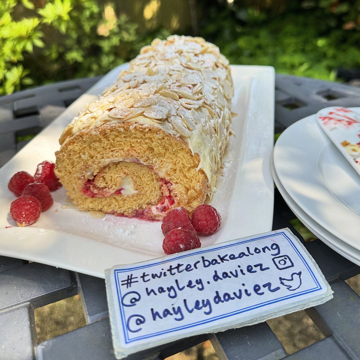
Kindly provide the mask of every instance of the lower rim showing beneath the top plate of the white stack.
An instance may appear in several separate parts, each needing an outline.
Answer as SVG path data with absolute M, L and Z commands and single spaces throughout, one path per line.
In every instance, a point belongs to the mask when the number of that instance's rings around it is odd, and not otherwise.
M 338 252 L 343 257 L 346 257 L 348 260 L 354 262 L 357 265 L 360 265 L 360 251 L 351 247 L 347 243 L 343 242 L 329 231 L 325 230 L 320 224 L 318 224 L 314 219 L 311 219 L 305 211 L 303 211 L 291 196 L 284 189 L 284 186 L 279 180 L 278 175 L 276 174 L 274 162 L 271 160 L 271 174 L 273 175 L 274 183 L 278 188 L 280 194 L 282 195 L 285 202 L 288 204 L 292 212 L 298 217 L 298 219 L 320 240 L 327 244 L 334 251 Z

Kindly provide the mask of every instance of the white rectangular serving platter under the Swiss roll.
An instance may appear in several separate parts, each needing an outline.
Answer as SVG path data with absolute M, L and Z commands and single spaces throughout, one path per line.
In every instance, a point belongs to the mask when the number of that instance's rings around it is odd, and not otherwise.
M 43 160 L 55 160 L 58 139 L 78 111 L 111 85 L 127 64 L 104 76 L 53 123 L 0 169 L 0 254 L 104 277 L 104 270 L 163 256 L 160 222 L 106 215 L 94 219 L 88 212 L 62 208 L 65 190 L 53 193 L 55 203 L 30 227 L 13 226 L 9 216 L 15 199 L 7 184 L 17 171 L 34 173 Z M 271 230 L 273 180 L 270 155 L 274 133 L 274 69 L 231 66 L 235 85 L 232 111 L 236 138 L 230 140 L 224 176 L 211 204 L 222 217 L 220 230 L 201 237 L 202 246 Z

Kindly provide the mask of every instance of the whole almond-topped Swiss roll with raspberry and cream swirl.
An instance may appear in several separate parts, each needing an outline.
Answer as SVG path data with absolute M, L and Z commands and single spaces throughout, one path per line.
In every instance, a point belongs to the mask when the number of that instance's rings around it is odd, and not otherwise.
M 231 135 L 228 60 L 199 37 L 155 39 L 66 127 L 55 172 L 80 210 L 161 220 L 216 191 Z

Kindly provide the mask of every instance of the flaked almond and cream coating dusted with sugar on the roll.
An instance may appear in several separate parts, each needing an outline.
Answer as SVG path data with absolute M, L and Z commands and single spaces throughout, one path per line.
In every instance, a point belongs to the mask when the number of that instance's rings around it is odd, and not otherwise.
M 157 126 L 180 136 L 199 154 L 198 170 L 207 175 L 211 195 L 231 135 L 233 84 L 228 65 L 219 48 L 202 38 L 155 39 L 66 127 L 60 144 L 105 122 Z

